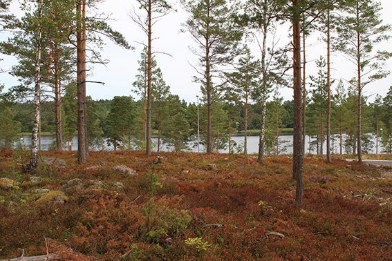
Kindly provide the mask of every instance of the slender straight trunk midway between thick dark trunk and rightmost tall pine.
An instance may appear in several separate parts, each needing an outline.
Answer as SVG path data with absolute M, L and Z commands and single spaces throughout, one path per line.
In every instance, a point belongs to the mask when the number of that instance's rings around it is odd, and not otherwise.
M 329 10 L 328 0 L 328 10 L 327 10 L 327 92 L 328 92 L 328 109 L 327 109 L 327 133 L 326 133 L 326 155 L 327 155 L 327 163 L 331 163 L 330 158 L 330 10 Z

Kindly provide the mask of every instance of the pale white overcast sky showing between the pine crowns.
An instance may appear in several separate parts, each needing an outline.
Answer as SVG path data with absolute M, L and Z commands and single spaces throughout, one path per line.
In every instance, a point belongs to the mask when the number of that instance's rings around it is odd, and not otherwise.
M 201 96 L 201 93 L 200 84 L 192 81 L 192 77 L 197 75 L 194 66 L 197 66 L 198 58 L 189 50 L 189 47 L 197 48 L 197 45 L 189 33 L 180 32 L 180 29 L 183 28 L 182 24 L 187 20 L 188 14 L 181 9 L 178 3 L 168 2 L 177 11 L 162 17 L 153 26 L 153 37 L 155 38 L 152 43 L 153 50 L 157 52 L 156 61 L 158 67 L 162 70 L 163 78 L 166 84 L 170 86 L 171 93 L 178 95 L 180 99 L 185 99 L 185 101 L 193 103 L 196 102 L 196 95 Z M 383 7 L 381 17 L 384 23 L 392 24 L 392 1 L 381 0 L 380 2 Z M 105 84 L 88 83 L 86 93 L 93 99 L 113 99 L 114 96 L 123 95 L 131 95 L 138 99 L 136 94 L 133 93 L 134 88 L 132 83 L 136 80 L 136 75 L 139 73 L 138 60 L 143 49 L 140 43 L 147 43 L 147 35 L 129 17 L 129 13 L 133 10 L 140 12 L 138 2 L 134 0 L 106 0 L 100 3 L 97 8 L 97 12 L 111 14 L 111 19 L 107 22 L 114 30 L 121 32 L 131 46 L 135 47 L 135 50 L 124 49 L 107 40 L 106 46 L 101 51 L 101 55 L 103 59 L 109 60 L 109 64 L 95 64 L 90 75 L 88 75 L 89 81 L 103 81 Z M 12 3 L 11 11 L 17 15 L 23 14 L 19 10 L 18 1 Z M 286 44 L 290 42 L 287 35 L 288 27 L 283 26 L 278 29 L 275 38 L 280 38 L 280 42 Z M 0 35 L 0 40 L 6 40 L 7 37 L 3 33 Z M 309 75 L 317 74 L 315 60 L 319 59 L 320 55 L 326 57 L 326 45 L 319 41 L 318 38 L 317 35 L 314 35 L 308 40 L 309 46 L 306 50 L 308 63 L 306 64 L 306 70 Z M 251 51 L 256 58 L 258 58 L 257 49 L 255 44 L 251 46 Z M 392 39 L 380 44 L 376 49 L 392 52 Z M 162 52 L 170 54 L 170 56 Z M 3 61 L 0 61 L 0 67 L 3 70 L 9 70 L 12 65 L 17 64 L 17 60 L 14 57 L 6 57 L 5 55 L 0 55 L 0 57 L 3 58 Z M 355 75 L 355 66 L 342 55 L 338 53 L 333 54 L 331 62 L 333 68 L 331 76 L 337 79 L 333 87 L 337 85 L 339 79 L 349 80 Z M 392 70 L 392 59 L 387 64 L 386 69 Z M 8 73 L 2 73 L 0 75 L 0 82 L 5 84 L 6 88 L 19 84 L 17 79 Z M 348 86 L 348 84 L 345 85 Z M 369 96 L 369 101 L 372 101 L 377 93 L 385 96 L 390 86 L 392 86 L 392 75 L 389 75 L 386 79 L 368 84 L 364 88 L 364 95 Z M 279 92 L 285 100 L 292 99 L 292 88 L 281 88 Z

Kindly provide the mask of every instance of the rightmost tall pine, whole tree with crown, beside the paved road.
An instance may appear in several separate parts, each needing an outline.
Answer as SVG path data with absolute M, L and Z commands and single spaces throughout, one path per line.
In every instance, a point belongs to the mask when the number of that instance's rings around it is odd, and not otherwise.
M 362 162 L 362 90 L 389 74 L 384 61 L 392 56 L 386 51 L 374 52 L 375 44 L 389 39 L 390 25 L 382 25 L 380 3 L 367 0 L 346 0 L 341 5 L 344 16 L 339 18 L 335 49 L 343 52 L 356 66 L 356 76 L 350 84 L 357 90 L 357 153 Z

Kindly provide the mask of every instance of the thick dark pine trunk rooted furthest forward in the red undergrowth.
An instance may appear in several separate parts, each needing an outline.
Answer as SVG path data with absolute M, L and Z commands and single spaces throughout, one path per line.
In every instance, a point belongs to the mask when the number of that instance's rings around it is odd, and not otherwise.
M 299 0 L 293 0 L 293 59 L 294 59 L 294 137 L 293 137 L 293 157 L 292 157 L 292 178 L 297 180 L 295 200 L 302 204 L 304 194 L 304 148 L 302 136 L 301 117 L 301 26 L 299 14 Z

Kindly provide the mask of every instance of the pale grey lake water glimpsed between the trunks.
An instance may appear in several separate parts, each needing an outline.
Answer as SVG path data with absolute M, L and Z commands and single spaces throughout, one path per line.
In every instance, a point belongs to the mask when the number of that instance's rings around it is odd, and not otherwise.
M 289 144 L 289 146 L 287 147 L 286 152 L 284 152 L 284 154 L 292 153 L 292 135 L 282 135 L 279 138 L 281 139 L 281 141 L 288 141 L 287 144 Z M 309 142 L 312 142 L 312 140 L 313 139 L 311 139 L 311 138 L 309 139 L 309 137 L 306 136 L 306 141 L 305 141 L 306 153 L 308 153 L 308 151 L 309 151 Z M 243 142 L 244 142 L 244 136 L 232 136 L 232 141 L 233 141 L 233 143 L 235 142 L 237 144 L 237 148 L 242 148 L 241 151 L 236 151 L 236 149 L 232 148 L 234 153 L 243 152 L 243 146 L 241 146 L 241 144 L 243 144 Z M 248 153 L 249 154 L 254 154 L 254 153 L 259 152 L 259 136 L 249 136 L 249 137 L 247 137 L 247 142 L 248 142 Z M 375 144 L 375 137 L 373 139 L 373 142 Z M 158 139 L 156 137 L 155 138 L 153 137 L 151 139 L 151 143 L 157 144 Z M 22 136 L 21 140 L 19 142 L 16 142 L 15 146 L 17 148 L 29 149 L 31 146 L 31 136 Z M 191 150 L 193 152 L 195 152 L 195 153 L 198 152 L 197 141 L 196 142 L 189 142 L 188 146 L 189 146 L 189 148 L 191 148 Z M 340 146 L 339 146 L 339 142 L 337 141 L 337 139 L 335 139 L 335 141 L 333 139 L 331 139 L 330 146 L 331 146 L 331 148 L 333 148 L 334 153 L 339 153 Z M 41 136 L 41 150 L 47 151 L 49 149 L 55 149 L 55 137 L 51 136 L 51 135 Z M 102 148 L 91 148 L 91 149 L 92 150 L 100 150 Z M 107 146 L 106 142 L 104 142 L 104 149 L 113 150 L 113 146 Z M 201 144 L 200 144 L 199 149 L 200 149 L 200 152 L 205 152 L 205 147 Z M 64 150 L 68 151 L 67 145 L 64 145 Z M 72 150 L 77 151 L 77 136 L 75 136 L 72 140 Z M 153 148 L 153 151 L 156 151 L 156 146 Z M 161 146 L 160 151 L 173 151 L 173 148 L 165 146 L 165 144 L 164 144 Z M 344 149 L 343 149 L 343 151 L 344 151 Z M 382 149 L 380 148 L 380 142 L 379 142 L 378 151 L 379 151 L 379 153 L 380 153 L 380 151 L 382 151 Z M 219 153 L 229 153 L 229 150 L 228 150 L 228 148 L 226 148 L 225 150 L 220 150 Z M 315 154 L 315 151 L 312 151 L 311 153 Z M 372 153 L 375 153 L 375 148 L 373 148 Z M 326 154 L 326 145 L 324 144 L 324 155 L 325 154 Z

